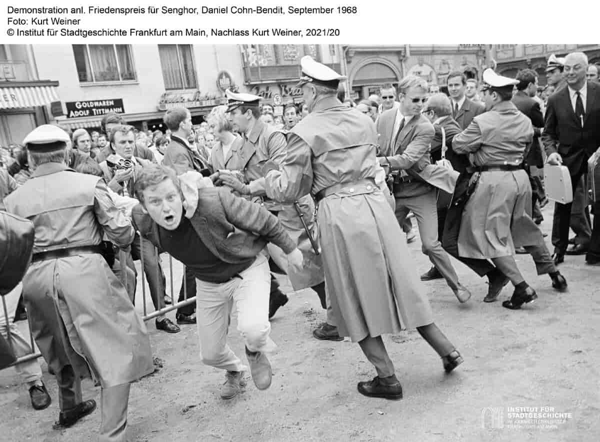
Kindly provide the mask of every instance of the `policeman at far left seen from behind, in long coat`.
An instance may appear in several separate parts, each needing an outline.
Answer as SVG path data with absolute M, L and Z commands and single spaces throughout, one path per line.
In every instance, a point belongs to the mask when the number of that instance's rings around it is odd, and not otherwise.
M 52 125 L 27 135 L 23 144 L 34 174 L 4 202 L 7 211 L 34 223 L 23 297 L 37 346 L 59 386 L 56 426 L 69 427 L 94 411 L 95 401 L 82 401 L 80 385 L 93 377 L 102 387 L 100 440 L 122 441 L 130 383 L 154 367 L 146 326 L 98 246 L 104 232 L 127 246 L 134 230 L 100 177 L 65 165 L 67 141 Z

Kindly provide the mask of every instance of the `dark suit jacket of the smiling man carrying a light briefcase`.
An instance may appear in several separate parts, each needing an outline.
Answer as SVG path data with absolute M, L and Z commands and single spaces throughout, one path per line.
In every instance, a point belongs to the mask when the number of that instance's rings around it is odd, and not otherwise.
M 575 174 L 587 167 L 587 159 L 600 146 L 600 84 L 587 81 L 586 114 L 575 116 L 569 88 L 564 87 L 548 98 L 542 143 L 546 154 L 558 152 L 563 164 Z

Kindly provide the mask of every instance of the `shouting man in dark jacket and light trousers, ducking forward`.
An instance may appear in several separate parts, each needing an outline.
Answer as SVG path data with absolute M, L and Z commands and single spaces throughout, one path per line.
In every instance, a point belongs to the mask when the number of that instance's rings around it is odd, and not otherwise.
M 264 207 L 234 196 L 226 187 L 194 186 L 184 192 L 184 213 L 181 185 L 164 166 L 140 172 L 136 194 L 141 203 L 132 212 L 136 228 L 197 278 L 200 352 L 205 364 L 226 370 L 221 398 L 239 393 L 247 370 L 227 345 L 233 305 L 254 384 L 267 389 L 272 373 L 265 353 L 277 346 L 269 337 L 269 265 L 261 252 L 273 241 L 290 265 L 301 267 L 302 253 L 292 238 Z

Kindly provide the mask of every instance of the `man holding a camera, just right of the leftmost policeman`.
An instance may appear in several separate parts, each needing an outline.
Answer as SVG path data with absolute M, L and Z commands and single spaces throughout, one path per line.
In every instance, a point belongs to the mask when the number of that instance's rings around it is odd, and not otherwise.
M 110 131 L 109 141 L 111 152 L 118 157 L 133 162 L 133 167 L 130 169 L 119 169 L 110 166 L 107 161 L 103 161 L 100 163 L 100 168 L 104 173 L 104 180 L 113 192 L 116 192 L 119 195 L 131 196 L 133 198 L 135 195 L 134 183 L 137 176 L 144 167 L 147 167 L 152 163 L 145 159 L 133 156 L 135 144 L 133 126 L 114 126 Z M 164 308 L 164 298 L 166 296 L 166 279 L 160 265 L 160 256 L 158 256 L 157 250 L 152 246 L 152 243 L 140 238 L 140 235 L 136 232 L 133 243 L 131 244 L 131 258 L 141 259 L 142 254 L 143 271 L 148 280 L 152 303 L 156 310 L 160 310 L 161 308 Z M 158 330 L 163 330 L 167 333 L 179 332 L 179 327 L 171 322 L 169 318 L 164 316 L 164 314 L 157 316 L 155 323 Z

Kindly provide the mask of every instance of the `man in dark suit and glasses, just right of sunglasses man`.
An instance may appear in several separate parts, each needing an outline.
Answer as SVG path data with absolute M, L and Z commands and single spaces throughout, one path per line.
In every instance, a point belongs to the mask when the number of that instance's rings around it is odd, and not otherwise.
M 427 100 L 427 105 L 423 111 L 423 115 L 427 117 L 433 124 L 436 134 L 431 141 L 431 161 L 436 162 L 442 159 L 442 140 L 445 139 L 444 157 L 452 164 L 455 171 L 463 173 L 469 166 L 469 157 L 467 155 L 459 155 L 452 150 L 452 139 L 454 135 L 460 134 L 461 129 L 454 118 L 452 118 L 452 105 L 450 99 L 445 93 L 436 93 Z M 443 131 L 443 135 L 442 135 Z M 443 237 L 444 223 L 446 222 L 446 214 L 448 213 L 448 204 L 452 195 L 450 193 L 439 190 L 437 193 L 437 238 L 440 240 Z M 433 265 L 430 270 L 421 275 L 422 281 L 430 281 L 433 279 L 443 278 L 436 266 Z

